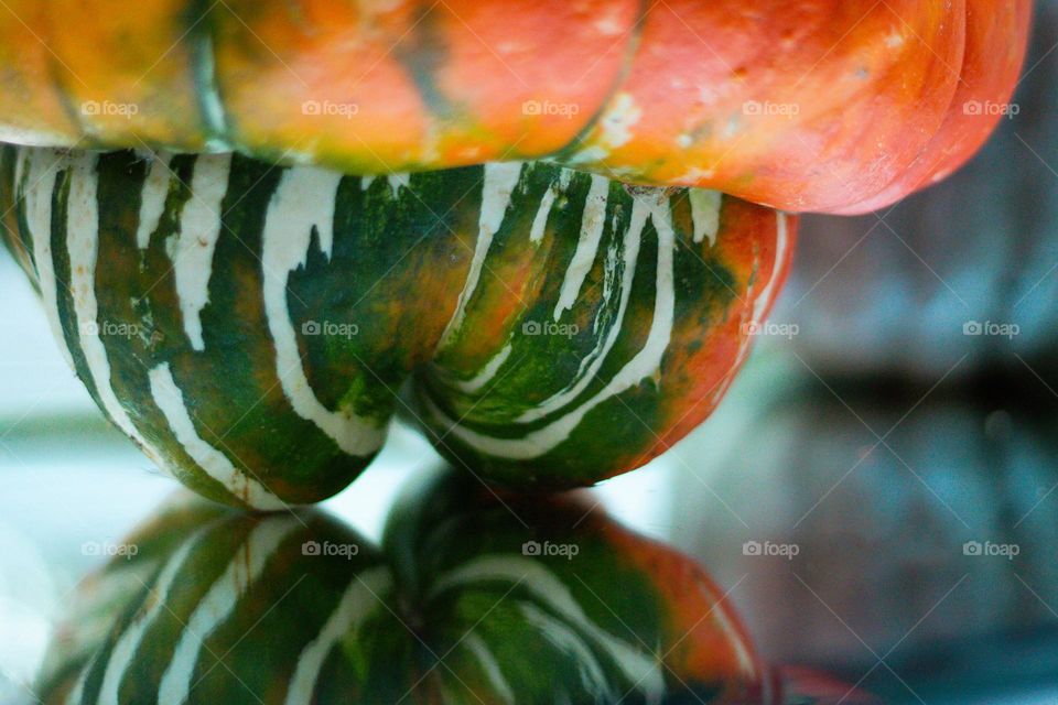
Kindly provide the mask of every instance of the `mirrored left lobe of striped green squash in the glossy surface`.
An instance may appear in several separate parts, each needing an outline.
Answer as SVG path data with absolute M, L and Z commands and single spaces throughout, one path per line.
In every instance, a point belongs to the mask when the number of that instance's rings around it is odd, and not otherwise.
M 357 628 L 397 626 L 377 552 L 324 514 L 251 518 L 199 506 L 166 512 L 126 545 L 138 552 L 111 561 L 75 600 L 76 615 L 107 629 L 64 627 L 40 680 L 43 702 L 227 703 L 252 693 L 307 704 L 342 639 L 353 639 L 342 646 L 348 659 L 364 663 Z M 123 584 L 120 598 L 104 600 L 105 584 Z

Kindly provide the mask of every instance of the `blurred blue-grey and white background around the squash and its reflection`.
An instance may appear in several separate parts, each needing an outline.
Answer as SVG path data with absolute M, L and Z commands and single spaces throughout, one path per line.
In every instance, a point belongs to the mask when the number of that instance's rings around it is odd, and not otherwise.
M 593 490 L 695 556 L 770 662 L 894 703 L 1058 704 L 1058 2 L 986 149 L 887 212 L 806 217 L 719 412 Z M 0 703 L 174 485 L 108 427 L 0 252 Z M 414 432 L 328 502 L 376 539 Z

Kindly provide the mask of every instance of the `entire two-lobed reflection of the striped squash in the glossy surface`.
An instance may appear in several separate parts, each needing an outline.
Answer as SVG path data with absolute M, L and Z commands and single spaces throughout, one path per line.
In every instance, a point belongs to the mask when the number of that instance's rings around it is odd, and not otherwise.
M 82 583 L 42 702 L 773 705 L 692 561 L 465 479 L 406 500 L 385 555 L 320 512 L 170 506 Z

